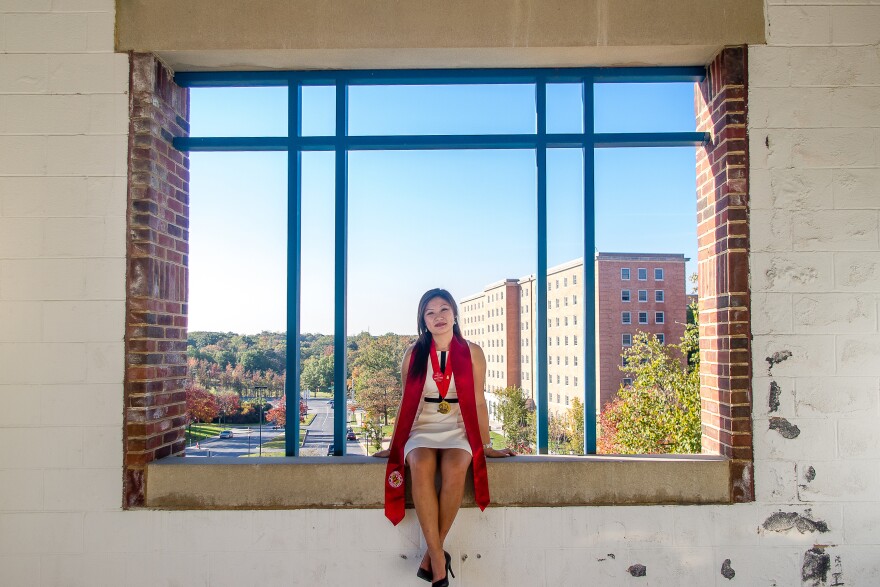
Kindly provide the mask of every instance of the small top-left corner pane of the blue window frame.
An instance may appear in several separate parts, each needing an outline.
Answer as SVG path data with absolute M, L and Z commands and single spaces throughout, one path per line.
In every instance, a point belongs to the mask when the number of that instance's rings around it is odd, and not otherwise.
M 287 136 L 287 88 L 192 88 L 193 137 Z

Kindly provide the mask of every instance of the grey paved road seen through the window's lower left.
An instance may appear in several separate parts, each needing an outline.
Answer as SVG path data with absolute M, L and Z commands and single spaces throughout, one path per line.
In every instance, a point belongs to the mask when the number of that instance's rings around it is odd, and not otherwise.
M 330 400 L 309 400 L 309 412 L 315 419 L 304 429 L 308 431 L 302 445 L 303 456 L 324 456 L 328 447 L 333 444 L 333 408 Z M 262 430 L 263 443 L 283 434 L 284 430 L 273 430 L 271 425 L 264 425 Z M 187 457 L 241 457 L 247 454 L 258 454 L 260 446 L 259 428 L 232 428 L 232 438 L 207 438 L 198 446 L 186 448 Z M 362 439 L 346 441 L 346 454 L 366 455 L 367 451 Z

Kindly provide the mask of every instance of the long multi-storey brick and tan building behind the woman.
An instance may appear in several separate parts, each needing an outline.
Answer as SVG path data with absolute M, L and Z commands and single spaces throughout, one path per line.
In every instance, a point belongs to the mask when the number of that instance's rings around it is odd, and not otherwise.
M 620 370 L 621 354 L 638 332 L 678 343 L 684 334 L 688 297 L 684 255 L 598 253 L 596 263 L 597 408 L 630 381 Z M 583 398 L 583 259 L 547 271 L 548 407 L 568 409 Z M 535 397 L 534 275 L 505 279 L 460 302 L 462 332 L 486 354 L 486 391 L 521 387 Z

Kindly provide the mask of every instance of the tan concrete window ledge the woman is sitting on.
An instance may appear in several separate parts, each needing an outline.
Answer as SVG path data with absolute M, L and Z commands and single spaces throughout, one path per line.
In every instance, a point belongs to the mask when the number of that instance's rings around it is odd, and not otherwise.
M 496 507 L 733 503 L 730 463 L 707 455 L 518 456 L 489 461 L 489 491 Z M 385 464 L 354 456 L 169 457 L 147 465 L 145 506 L 382 508 Z M 475 507 L 470 480 L 464 507 Z

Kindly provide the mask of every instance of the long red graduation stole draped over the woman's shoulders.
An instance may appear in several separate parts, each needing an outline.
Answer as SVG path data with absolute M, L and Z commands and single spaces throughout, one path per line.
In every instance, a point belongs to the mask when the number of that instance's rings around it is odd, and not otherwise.
M 477 401 L 474 392 L 474 369 L 471 364 L 471 351 L 463 338 L 453 337 L 449 344 L 449 355 L 452 361 L 452 375 L 455 377 L 455 389 L 458 393 L 458 405 L 464 420 L 465 433 L 471 445 L 474 468 L 474 497 L 480 510 L 489 505 L 489 478 L 486 474 L 486 455 L 483 454 L 483 440 L 480 437 L 480 423 L 477 420 Z M 397 415 L 397 433 L 391 444 L 391 455 L 385 468 L 385 517 L 395 526 L 405 515 L 406 488 L 404 487 L 404 454 L 403 448 L 409 439 L 419 403 L 422 401 L 422 390 L 425 388 L 427 369 L 416 377 L 413 363 L 416 353 L 410 358 L 406 384 L 403 388 L 403 402 Z

